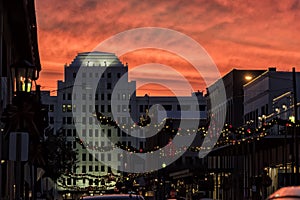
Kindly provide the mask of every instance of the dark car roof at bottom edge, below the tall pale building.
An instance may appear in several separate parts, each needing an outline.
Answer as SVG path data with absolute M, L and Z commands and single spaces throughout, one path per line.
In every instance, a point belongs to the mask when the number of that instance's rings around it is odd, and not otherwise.
M 97 196 L 85 196 L 82 200 L 145 200 L 137 194 L 105 194 Z

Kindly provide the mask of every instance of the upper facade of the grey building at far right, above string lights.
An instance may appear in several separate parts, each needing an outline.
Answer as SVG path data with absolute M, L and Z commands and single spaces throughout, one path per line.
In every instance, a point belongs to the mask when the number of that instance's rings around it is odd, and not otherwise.
M 296 73 L 296 85 L 300 83 L 300 74 Z M 276 71 L 276 68 L 269 68 L 255 79 L 244 85 L 244 122 L 252 123 L 254 127 L 261 125 L 263 121 L 270 118 L 270 114 L 274 112 L 273 106 L 277 106 L 277 112 L 285 107 L 273 105 L 275 98 L 288 93 L 290 94 L 290 102 L 286 102 L 286 106 L 291 105 L 293 99 L 293 73 Z M 300 95 L 297 94 L 299 99 Z

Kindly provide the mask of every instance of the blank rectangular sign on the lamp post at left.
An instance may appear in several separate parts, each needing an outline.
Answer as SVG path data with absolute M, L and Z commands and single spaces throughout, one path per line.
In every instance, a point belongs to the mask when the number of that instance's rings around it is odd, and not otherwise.
M 29 134 L 27 132 L 11 132 L 9 134 L 9 160 L 28 160 Z

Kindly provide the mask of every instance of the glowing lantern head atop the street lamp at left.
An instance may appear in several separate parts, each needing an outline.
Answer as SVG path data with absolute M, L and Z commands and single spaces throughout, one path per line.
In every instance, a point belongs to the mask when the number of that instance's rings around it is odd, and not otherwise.
M 32 81 L 38 78 L 38 71 L 27 60 L 20 60 L 11 65 L 11 75 L 16 93 L 31 92 Z

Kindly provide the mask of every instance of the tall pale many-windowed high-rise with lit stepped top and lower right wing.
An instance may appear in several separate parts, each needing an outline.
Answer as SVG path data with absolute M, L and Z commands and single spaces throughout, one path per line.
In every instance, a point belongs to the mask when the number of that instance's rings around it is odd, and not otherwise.
M 140 116 L 145 116 L 152 105 L 160 104 L 166 110 L 158 109 L 156 121 L 152 118 L 152 123 L 160 123 L 165 118 L 206 119 L 206 100 L 202 93 L 180 97 L 181 100 L 147 95 L 136 97 L 136 84 L 128 81 L 127 72 L 128 66 L 113 53 L 79 53 L 71 64 L 65 65 L 64 81 L 58 81 L 57 96 L 42 95 L 43 103 L 49 104 L 50 125 L 54 131 L 62 129 L 67 145 L 79 153 L 77 168 L 71 176 L 62 177 L 64 186 L 102 187 L 103 177 L 109 174 L 118 177 L 121 171 L 126 171 L 126 166 L 133 170 L 136 167 L 137 171 L 146 169 L 145 162 L 132 159 L 130 154 L 110 150 L 120 146 L 142 150 L 157 145 L 153 141 L 146 144 L 149 142 L 147 131 L 134 132 Z M 197 100 L 196 104 L 192 98 Z M 180 101 L 185 105 L 179 105 Z M 105 184 L 109 187 L 109 183 Z

